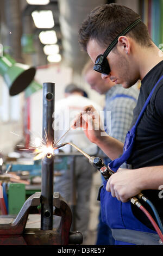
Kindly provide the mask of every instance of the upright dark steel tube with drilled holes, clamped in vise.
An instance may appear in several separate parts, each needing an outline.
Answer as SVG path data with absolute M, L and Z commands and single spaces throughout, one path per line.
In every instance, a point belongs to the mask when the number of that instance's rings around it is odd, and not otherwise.
M 47 147 L 54 143 L 54 83 L 43 83 L 42 138 Z M 51 153 L 42 159 L 41 171 L 41 229 L 53 229 L 53 176 L 54 157 Z

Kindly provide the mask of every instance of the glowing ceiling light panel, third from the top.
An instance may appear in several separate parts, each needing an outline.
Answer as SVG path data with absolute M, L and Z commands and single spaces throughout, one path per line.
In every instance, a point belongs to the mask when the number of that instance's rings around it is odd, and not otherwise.
M 57 43 L 57 35 L 55 31 L 41 31 L 39 34 L 40 41 L 44 45 L 53 45 Z

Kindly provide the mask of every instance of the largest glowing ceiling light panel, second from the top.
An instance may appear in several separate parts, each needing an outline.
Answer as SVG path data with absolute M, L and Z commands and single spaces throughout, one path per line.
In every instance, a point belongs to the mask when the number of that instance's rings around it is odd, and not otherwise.
M 53 28 L 54 19 L 51 10 L 33 11 L 32 17 L 36 28 Z

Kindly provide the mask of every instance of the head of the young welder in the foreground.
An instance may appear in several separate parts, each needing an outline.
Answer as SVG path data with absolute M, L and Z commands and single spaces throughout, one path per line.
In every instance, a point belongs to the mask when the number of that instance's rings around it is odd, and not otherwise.
M 142 21 L 126 35 L 119 36 L 139 18 L 139 14 L 127 7 L 104 4 L 91 11 L 79 30 L 79 42 L 93 63 L 118 37 L 117 44 L 106 57 L 111 71 L 108 75 L 102 74 L 102 78 L 110 78 L 112 82 L 121 83 L 124 88 L 133 86 L 140 79 L 140 50 L 153 46 Z

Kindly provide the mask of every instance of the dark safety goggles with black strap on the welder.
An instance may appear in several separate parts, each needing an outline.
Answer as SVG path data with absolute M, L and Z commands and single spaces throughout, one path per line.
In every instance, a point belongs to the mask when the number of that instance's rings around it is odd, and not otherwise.
M 104 75 L 109 75 L 111 70 L 110 70 L 110 66 L 108 63 L 108 59 L 106 57 L 108 56 L 109 52 L 111 52 L 111 50 L 116 46 L 116 44 L 118 42 L 118 38 L 122 35 L 126 35 L 131 29 L 133 29 L 140 22 L 141 22 L 141 19 L 137 19 L 136 21 L 131 23 L 130 26 L 128 26 L 120 35 L 118 35 L 111 42 L 111 44 L 108 46 L 108 48 L 105 50 L 105 52 L 103 54 L 100 54 L 97 56 L 97 58 L 95 60 L 95 64 L 93 66 L 93 70 L 96 70 L 97 72 L 102 73 Z

